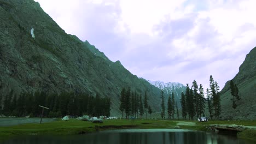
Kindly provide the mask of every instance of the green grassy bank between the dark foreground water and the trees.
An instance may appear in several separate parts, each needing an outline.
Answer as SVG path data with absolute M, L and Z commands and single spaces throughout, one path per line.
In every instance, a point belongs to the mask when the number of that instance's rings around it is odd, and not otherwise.
M 162 121 L 149 119 L 115 119 L 106 120 L 101 124 L 79 121 L 71 119 L 70 121 L 55 121 L 42 124 L 22 124 L 10 127 L 0 127 L 0 140 L 9 139 L 13 136 L 22 135 L 78 135 L 92 133 L 95 131 L 109 129 L 154 129 L 154 128 L 175 128 L 179 122 L 194 122 L 195 125 L 180 125 L 181 129 L 206 130 L 210 124 L 237 124 L 256 126 L 256 121 Z M 256 141 L 256 130 L 244 130 L 238 134 L 242 139 Z

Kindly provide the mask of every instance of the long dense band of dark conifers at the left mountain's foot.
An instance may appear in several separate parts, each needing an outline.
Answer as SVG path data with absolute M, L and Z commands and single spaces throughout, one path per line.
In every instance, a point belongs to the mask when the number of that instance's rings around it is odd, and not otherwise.
M 46 94 L 45 92 L 26 92 L 19 95 L 10 91 L 7 95 L 0 94 L 0 113 L 5 116 L 39 117 L 42 107 L 49 107 L 44 111 L 44 117 L 72 116 L 109 116 L 110 98 L 93 97 L 86 93 L 62 92 L 60 94 Z

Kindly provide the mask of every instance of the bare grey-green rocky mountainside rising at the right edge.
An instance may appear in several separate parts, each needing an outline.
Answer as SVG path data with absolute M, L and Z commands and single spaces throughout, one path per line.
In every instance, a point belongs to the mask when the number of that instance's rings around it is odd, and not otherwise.
M 254 47 L 239 67 L 238 74 L 232 79 L 240 91 L 241 100 L 236 110 L 232 109 L 230 81 L 220 92 L 223 119 L 256 119 L 256 47 Z

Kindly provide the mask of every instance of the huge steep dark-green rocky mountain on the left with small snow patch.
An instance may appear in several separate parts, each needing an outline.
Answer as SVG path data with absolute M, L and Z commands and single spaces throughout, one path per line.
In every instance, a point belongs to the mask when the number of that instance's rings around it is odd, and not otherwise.
M 38 2 L 0 0 L 0 19 L 0 93 L 98 93 L 110 97 L 111 114 L 118 116 L 120 91 L 131 87 L 147 91 L 149 105 L 160 110 L 159 88 L 120 61 L 110 61 L 88 41 L 65 33 Z

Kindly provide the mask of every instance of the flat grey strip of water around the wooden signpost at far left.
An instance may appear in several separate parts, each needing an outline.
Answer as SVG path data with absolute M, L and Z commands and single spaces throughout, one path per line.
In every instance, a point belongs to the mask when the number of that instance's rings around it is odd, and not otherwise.
M 9 118 L 9 117 L 0 117 L 0 127 L 10 126 L 10 125 L 19 125 L 25 123 L 40 123 L 41 118 Z M 43 118 L 42 123 L 53 122 L 53 118 Z

